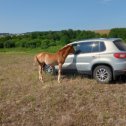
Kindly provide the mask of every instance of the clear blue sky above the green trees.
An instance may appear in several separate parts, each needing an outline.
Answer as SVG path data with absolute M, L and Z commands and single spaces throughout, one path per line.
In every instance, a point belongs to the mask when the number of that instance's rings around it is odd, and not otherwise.
M 0 0 L 0 33 L 126 27 L 126 0 Z

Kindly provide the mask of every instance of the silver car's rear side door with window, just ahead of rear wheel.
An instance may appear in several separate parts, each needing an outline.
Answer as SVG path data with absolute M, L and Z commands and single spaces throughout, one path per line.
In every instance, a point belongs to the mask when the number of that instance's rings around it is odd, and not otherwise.
M 93 60 L 99 58 L 99 42 L 83 42 L 77 45 L 74 57 L 75 69 L 78 72 L 91 70 Z

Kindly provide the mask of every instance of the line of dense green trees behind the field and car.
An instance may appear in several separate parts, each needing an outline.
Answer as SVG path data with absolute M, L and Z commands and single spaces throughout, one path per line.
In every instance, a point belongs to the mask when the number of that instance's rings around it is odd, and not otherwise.
M 111 29 L 109 34 L 98 34 L 85 30 L 62 30 L 46 32 L 29 32 L 24 34 L 5 34 L 0 37 L 0 48 L 48 48 L 50 46 L 65 45 L 82 39 L 115 37 L 126 41 L 126 28 Z

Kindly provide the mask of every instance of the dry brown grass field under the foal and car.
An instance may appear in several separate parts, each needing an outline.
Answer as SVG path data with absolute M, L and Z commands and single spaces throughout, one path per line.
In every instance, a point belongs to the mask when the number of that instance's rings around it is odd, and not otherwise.
M 0 126 L 126 126 L 126 84 L 45 75 L 28 54 L 0 54 Z

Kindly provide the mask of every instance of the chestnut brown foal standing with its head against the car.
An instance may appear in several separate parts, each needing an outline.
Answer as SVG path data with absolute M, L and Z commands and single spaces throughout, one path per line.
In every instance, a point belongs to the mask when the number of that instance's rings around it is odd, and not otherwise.
M 57 51 L 54 54 L 42 52 L 35 56 L 35 61 L 39 64 L 39 80 L 43 82 L 43 69 L 45 64 L 50 65 L 54 67 L 55 65 L 58 65 L 58 83 L 60 83 L 60 77 L 61 77 L 61 69 L 62 65 L 65 62 L 66 57 L 70 54 L 74 53 L 74 48 L 72 45 L 67 45 Z

